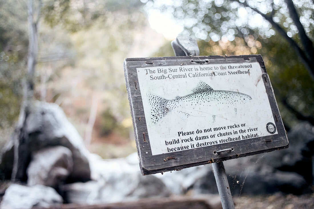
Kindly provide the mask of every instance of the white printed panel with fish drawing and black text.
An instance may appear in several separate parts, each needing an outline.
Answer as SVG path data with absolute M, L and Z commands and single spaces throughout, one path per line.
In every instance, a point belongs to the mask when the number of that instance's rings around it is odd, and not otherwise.
M 152 155 L 278 134 L 258 62 L 136 71 Z

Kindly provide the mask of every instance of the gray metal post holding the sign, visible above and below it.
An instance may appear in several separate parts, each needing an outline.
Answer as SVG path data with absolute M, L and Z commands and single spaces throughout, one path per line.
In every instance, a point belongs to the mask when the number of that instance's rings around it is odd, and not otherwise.
M 171 46 L 176 56 L 199 56 L 197 41 L 192 37 L 178 36 L 176 40 L 173 40 L 171 42 Z M 225 151 L 229 151 L 229 149 L 220 150 L 220 152 Z M 212 163 L 212 166 L 219 191 L 222 208 L 223 209 L 235 208 L 227 180 L 224 163 L 223 162 Z

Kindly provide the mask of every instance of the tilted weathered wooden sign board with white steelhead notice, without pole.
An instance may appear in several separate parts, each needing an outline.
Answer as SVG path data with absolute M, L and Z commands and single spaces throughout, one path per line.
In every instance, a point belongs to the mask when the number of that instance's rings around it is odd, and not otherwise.
M 288 147 L 260 55 L 127 58 L 142 174 Z

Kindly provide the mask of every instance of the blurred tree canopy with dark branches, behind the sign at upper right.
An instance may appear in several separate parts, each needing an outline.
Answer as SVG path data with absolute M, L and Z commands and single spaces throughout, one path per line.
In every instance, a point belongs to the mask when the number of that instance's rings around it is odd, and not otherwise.
M 314 125 L 313 1 L 153 0 L 149 9 L 172 13 L 201 55 L 261 54 L 287 128 Z

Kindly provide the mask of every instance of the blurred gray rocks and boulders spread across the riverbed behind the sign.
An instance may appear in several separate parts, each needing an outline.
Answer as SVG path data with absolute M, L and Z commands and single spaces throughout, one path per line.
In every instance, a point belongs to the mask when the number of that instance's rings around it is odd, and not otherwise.
M 115 204 L 174 196 L 193 199 L 218 193 L 210 164 L 142 176 L 137 153 L 116 159 L 89 153 L 57 105 L 38 102 L 29 118 L 25 124 L 25 134 L 30 137 L 24 144 L 29 146 L 25 179 L 3 187 L 1 209 Z M 311 208 L 314 128 L 301 123 L 288 138 L 288 149 L 225 161 L 239 208 Z M 11 177 L 13 156 L 14 142 L 9 140 L 0 163 L 6 179 Z M 302 201 L 306 206 L 301 207 Z M 251 207 L 242 207 L 246 204 Z

